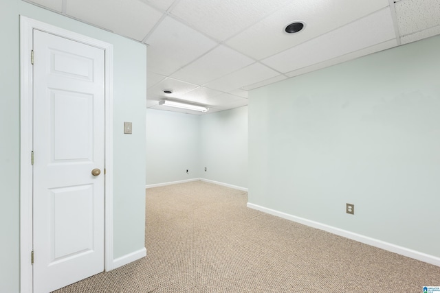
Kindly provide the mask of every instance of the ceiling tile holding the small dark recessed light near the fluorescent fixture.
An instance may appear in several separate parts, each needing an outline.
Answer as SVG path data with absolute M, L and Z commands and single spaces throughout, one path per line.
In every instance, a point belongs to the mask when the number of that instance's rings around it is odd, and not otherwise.
M 181 95 L 184 95 L 195 88 L 197 88 L 197 85 L 195 84 L 189 84 L 188 82 L 182 82 L 173 78 L 166 78 L 146 91 L 146 99 L 164 99 L 166 97 L 179 98 Z M 165 89 L 172 90 L 173 93 L 165 94 L 163 92 Z

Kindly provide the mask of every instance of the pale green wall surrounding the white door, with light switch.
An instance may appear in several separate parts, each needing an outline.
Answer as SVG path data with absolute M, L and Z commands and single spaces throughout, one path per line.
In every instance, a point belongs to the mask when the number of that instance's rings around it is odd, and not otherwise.
M 113 44 L 114 257 L 144 247 L 146 48 L 17 0 L 0 4 L 0 288 L 19 292 L 19 15 Z M 133 134 L 123 135 L 123 122 Z

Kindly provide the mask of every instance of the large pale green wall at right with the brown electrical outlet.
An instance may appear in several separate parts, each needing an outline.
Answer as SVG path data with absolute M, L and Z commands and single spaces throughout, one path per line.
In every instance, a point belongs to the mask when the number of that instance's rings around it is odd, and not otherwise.
M 249 202 L 440 257 L 439 51 L 436 36 L 251 91 Z

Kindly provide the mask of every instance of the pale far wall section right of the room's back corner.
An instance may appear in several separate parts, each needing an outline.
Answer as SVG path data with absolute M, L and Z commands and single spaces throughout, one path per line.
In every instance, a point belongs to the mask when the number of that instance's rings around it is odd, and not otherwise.
M 202 115 L 200 128 L 201 178 L 247 188 L 248 106 Z

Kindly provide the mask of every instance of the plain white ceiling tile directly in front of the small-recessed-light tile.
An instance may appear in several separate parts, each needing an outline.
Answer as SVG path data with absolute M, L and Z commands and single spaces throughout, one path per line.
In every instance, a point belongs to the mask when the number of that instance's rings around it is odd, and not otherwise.
M 180 69 L 172 78 L 193 84 L 205 84 L 223 75 L 250 65 L 254 60 L 224 45 L 216 47 L 195 62 Z

